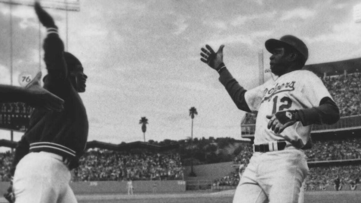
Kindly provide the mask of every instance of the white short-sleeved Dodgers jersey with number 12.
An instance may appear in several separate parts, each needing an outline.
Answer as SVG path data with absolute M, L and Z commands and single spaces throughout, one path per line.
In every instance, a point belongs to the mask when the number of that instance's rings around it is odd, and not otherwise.
M 321 79 L 308 70 L 295 70 L 281 75 L 275 81 L 270 79 L 263 85 L 245 92 L 244 97 L 249 109 L 258 111 L 255 144 L 285 139 L 297 142 L 300 147 L 306 144 L 312 125 L 303 126 L 299 121 L 288 126 L 282 133 L 276 134 L 267 128 L 269 119 L 266 115 L 278 111 L 318 107 L 322 98 L 332 99 Z

